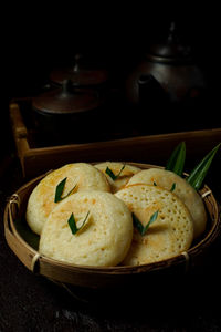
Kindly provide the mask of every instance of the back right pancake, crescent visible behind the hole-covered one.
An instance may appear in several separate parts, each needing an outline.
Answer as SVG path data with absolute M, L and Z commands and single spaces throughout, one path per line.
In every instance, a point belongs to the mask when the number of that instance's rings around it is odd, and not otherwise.
M 179 175 L 170 170 L 149 168 L 134 175 L 128 181 L 128 185 L 133 184 L 155 184 L 156 186 L 162 187 L 167 190 L 171 190 L 175 184 L 175 189 L 172 193 L 185 203 L 192 216 L 194 238 L 199 237 L 204 231 L 207 214 L 202 198 L 185 178 L 181 178 Z

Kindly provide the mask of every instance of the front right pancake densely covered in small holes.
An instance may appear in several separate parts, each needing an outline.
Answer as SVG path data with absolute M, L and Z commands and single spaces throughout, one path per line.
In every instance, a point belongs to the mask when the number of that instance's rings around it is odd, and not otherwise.
M 192 218 L 185 204 L 172 193 L 150 185 L 131 185 L 115 194 L 146 226 L 158 211 L 157 219 L 141 236 L 134 228 L 130 250 L 123 264 L 151 263 L 188 250 L 193 238 Z

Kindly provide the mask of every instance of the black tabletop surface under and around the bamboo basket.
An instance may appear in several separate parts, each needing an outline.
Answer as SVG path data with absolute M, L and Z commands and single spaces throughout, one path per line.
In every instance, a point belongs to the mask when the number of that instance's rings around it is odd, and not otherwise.
M 1 160 L 0 331 L 221 331 L 221 240 L 193 273 L 177 280 L 147 280 L 136 300 L 117 297 L 87 301 L 30 272 L 8 247 L 3 234 L 7 197 L 25 179 L 12 151 Z M 135 286 L 136 287 L 136 286 Z M 164 291 L 161 291 L 164 290 Z M 96 298 L 96 293 L 94 294 Z

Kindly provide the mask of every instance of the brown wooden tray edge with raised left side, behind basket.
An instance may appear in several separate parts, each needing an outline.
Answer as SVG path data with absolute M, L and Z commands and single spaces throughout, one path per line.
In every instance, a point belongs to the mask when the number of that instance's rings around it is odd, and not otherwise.
M 22 172 L 28 178 L 72 162 L 133 160 L 165 165 L 181 141 L 186 142 L 188 160 L 191 162 L 201 158 L 221 142 L 221 128 L 212 128 L 38 147 L 30 144 L 29 129 L 18 103 L 10 104 L 10 118 Z

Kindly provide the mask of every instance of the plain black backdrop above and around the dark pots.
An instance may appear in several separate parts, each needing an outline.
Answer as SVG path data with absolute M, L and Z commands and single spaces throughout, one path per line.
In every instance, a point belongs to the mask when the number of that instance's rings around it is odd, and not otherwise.
M 210 13 L 202 4 L 196 9 L 171 10 L 161 3 L 133 2 L 124 7 L 108 2 L 73 7 L 45 8 L 12 7 L 8 10 L 4 27 L 7 76 L 0 120 L 4 123 L 0 138 L 10 133 L 8 102 L 14 96 L 36 93 L 49 80 L 52 69 L 73 63 L 75 53 L 83 53 L 106 68 L 115 82 L 124 81 L 139 62 L 148 45 L 168 33 L 175 21 L 181 40 L 192 49 L 196 63 L 203 70 L 209 93 L 204 110 L 196 110 L 197 116 L 215 116 L 219 126 L 219 19 L 215 9 Z M 209 110 L 208 110 L 209 108 Z M 194 115 L 194 121 L 197 121 Z M 190 120 L 191 122 L 191 120 Z M 207 127 L 207 120 L 204 121 Z M 213 124 L 212 124 L 213 126 Z M 8 129 L 6 129 L 6 127 Z M 6 143 L 1 144 L 4 151 Z

